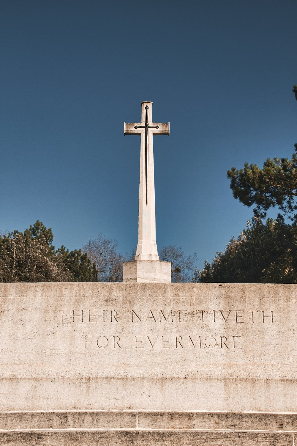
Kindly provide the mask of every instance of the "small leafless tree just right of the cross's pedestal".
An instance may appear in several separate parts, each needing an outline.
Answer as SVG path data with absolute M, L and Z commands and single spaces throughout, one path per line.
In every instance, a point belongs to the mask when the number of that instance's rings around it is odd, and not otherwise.
M 193 277 L 197 254 L 187 256 L 181 246 L 168 245 L 159 251 L 160 260 L 171 262 L 171 282 L 188 282 Z

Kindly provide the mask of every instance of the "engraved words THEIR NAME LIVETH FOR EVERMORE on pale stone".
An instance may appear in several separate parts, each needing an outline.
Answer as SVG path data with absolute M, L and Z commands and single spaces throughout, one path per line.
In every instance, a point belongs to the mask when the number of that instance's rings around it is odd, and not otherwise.
M 63 326 L 81 325 L 87 330 L 87 327 L 99 328 L 96 333 L 85 331 L 82 335 L 82 347 L 93 351 L 120 351 L 128 348 L 134 351 L 168 350 L 175 351 L 176 354 L 189 350 L 222 351 L 229 354 L 228 352 L 239 351 L 249 345 L 248 339 L 244 339 L 243 331 L 248 325 L 258 325 L 263 327 L 262 330 L 270 330 L 269 326 L 273 329 L 277 322 L 274 310 L 243 310 L 236 307 L 220 310 L 140 307 L 121 311 L 118 308 L 93 306 L 62 308 L 56 310 L 56 313 L 58 322 Z M 125 330 L 129 324 L 133 327 L 132 333 Z M 110 335 L 108 327 L 114 327 L 117 331 L 119 328 L 120 331 Z M 157 333 L 154 332 L 155 329 L 158 330 Z

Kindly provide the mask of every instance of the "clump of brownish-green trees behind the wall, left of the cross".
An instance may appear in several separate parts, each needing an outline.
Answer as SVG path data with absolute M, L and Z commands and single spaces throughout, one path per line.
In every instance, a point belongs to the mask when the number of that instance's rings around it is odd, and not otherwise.
M 23 233 L 0 236 L 2 282 L 96 282 L 97 270 L 81 250 L 55 250 L 53 232 L 37 220 Z

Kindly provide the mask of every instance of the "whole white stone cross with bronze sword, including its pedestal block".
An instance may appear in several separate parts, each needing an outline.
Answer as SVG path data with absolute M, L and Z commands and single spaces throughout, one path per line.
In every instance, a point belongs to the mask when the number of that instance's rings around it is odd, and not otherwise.
M 124 262 L 124 282 L 171 282 L 171 264 L 159 260 L 156 244 L 153 135 L 168 135 L 167 124 L 152 122 L 152 102 L 141 103 L 141 122 L 126 124 L 124 135 L 140 135 L 138 244 L 135 260 Z

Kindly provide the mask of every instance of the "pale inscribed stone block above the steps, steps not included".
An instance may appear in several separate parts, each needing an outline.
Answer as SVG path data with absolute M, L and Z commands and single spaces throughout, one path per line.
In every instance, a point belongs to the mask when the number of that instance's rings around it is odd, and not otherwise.
M 1 284 L 0 296 L 2 411 L 297 412 L 296 285 Z

